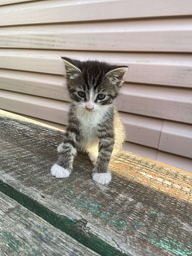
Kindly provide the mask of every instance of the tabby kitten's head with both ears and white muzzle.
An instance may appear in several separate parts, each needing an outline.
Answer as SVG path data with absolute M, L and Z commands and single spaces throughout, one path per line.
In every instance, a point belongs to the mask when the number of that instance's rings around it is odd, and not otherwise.
M 113 103 L 128 67 L 100 61 L 62 59 L 66 69 L 67 89 L 73 103 L 87 111 L 97 111 Z

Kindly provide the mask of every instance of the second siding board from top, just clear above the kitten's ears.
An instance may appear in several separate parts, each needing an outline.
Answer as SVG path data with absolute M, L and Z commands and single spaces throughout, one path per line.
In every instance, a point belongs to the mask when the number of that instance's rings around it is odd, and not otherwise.
M 1 48 L 192 52 L 192 18 L 0 28 Z

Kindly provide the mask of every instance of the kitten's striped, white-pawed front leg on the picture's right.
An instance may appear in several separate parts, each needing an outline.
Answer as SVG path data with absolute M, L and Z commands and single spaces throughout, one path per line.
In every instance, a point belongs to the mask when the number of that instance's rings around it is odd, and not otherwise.
M 94 167 L 93 180 L 104 185 L 109 184 L 111 181 L 111 174 L 108 166 L 114 145 L 113 130 L 101 130 L 98 138 L 100 139 L 99 155 Z

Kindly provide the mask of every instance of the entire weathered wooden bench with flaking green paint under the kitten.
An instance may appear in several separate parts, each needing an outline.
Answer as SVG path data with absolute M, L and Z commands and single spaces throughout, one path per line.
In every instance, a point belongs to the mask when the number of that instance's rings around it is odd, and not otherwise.
M 192 254 L 192 173 L 120 151 L 108 186 L 86 155 L 55 179 L 62 131 L 5 111 L 0 130 L 1 255 Z

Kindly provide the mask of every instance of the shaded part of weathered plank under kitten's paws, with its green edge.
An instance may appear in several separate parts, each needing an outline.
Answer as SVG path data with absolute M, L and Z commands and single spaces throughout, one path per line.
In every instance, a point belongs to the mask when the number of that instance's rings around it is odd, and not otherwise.
M 63 134 L 0 121 L 2 192 L 101 255 L 191 254 L 191 204 L 115 172 L 109 186 L 96 184 L 84 155 L 69 178 L 55 179 L 50 168 Z

